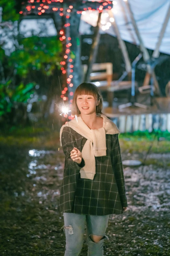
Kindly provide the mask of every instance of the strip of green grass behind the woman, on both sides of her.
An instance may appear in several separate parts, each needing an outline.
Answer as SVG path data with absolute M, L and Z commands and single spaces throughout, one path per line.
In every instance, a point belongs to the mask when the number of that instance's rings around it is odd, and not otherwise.
M 19 147 L 46 147 L 56 149 L 60 146 L 60 129 L 52 129 L 45 123 L 38 123 L 34 127 L 10 127 L 0 132 L 1 145 L 17 145 Z M 163 138 L 159 141 L 159 138 Z M 147 152 L 151 147 L 152 153 L 170 152 L 170 133 L 158 131 L 149 133 L 137 131 L 134 133 L 123 133 L 119 136 L 121 151 L 129 153 Z

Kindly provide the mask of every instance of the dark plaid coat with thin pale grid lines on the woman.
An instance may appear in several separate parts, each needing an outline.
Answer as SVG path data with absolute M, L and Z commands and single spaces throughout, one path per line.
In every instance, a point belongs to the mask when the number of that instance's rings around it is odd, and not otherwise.
M 83 158 L 78 164 L 70 157 L 73 145 L 81 152 L 86 140 L 74 129 L 63 128 L 65 163 L 59 200 L 60 212 L 122 214 L 122 207 L 127 207 L 127 199 L 118 134 L 106 134 L 106 156 L 95 157 L 96 174 L 93 180 L 80 178 L 79 171 L 85 165 Z

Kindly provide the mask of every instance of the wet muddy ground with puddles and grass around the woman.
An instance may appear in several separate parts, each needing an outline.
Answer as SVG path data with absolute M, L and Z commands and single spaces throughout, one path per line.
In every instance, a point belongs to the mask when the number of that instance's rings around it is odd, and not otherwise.
M 120 135 L 122 160 L 143 161 L 152 140 Z M 2 133 L 0 142 L 0 255 L 64 256 L 58 132 L 14 129 Z M 128 208 L 109 216 L 104 255 L 169 256 L 170 142 L 156 138 L 145 164 L 124 166 L 124 177 Z M 87 256 L 86 229 L 81 256 Z

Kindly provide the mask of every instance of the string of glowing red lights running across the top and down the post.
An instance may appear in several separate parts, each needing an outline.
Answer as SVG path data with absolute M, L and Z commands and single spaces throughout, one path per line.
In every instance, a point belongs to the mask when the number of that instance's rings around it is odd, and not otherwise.
M 116 1 L 113 1 L 116 4 Z M 92 13 L 93 11 L 103 12 L 104 9 L 109 10 L 112 9 L 113 3 L 109 0 L 101 0 L 101 1 L 69 1 L 69 0 L 28 0 L 23 1 L 22 8 L 19 11 L 19 13 L 23 16 L 25 15 L 43 15 L 50 14 L 53 12 L 57 12 L 58 15 L 61 17 L 63 23 L 63 27 L 59 31 L 59 40 L 63 44 L 63 60 L 60 62 L 61 65 L 61 71 L 63 76 L 63 83 L 62 83 L 62 89 L 61 89 L 61 98 L 66 103 L 69 100 L 69 103 L 67 104 L 69 108 L 72 106 L 72 96 L 73 91 L 70 91 L 70 89 L 74 86 L 73 84 L 73 76 L 74 76 L 74 65 L 73 65 L 73 59 L 70 57 L 71 53 L 71 37 L 70 37 L 70 29 L 69 27 L 70 22 L 70 16 L 72 15 L 73 9 L 77 11 L 78 14 L 85 15 L 86 11 Z M 108 29 L 111 24 L 106 24 L 105 26 L 102 26 L 102 29 Z M 70 89 L 68 90 L 68 87 Z M 69 94 L 68 94 L 69 93 Z M 69 120 L 74 119 L 74 115 L 68 116 L 68 113 L 64 114 L 64 117 L 68 118 Z

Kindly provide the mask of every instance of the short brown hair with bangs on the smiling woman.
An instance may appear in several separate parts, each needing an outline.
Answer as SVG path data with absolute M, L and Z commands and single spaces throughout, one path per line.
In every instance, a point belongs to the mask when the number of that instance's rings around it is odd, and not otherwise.
M 80 115 L 80 111 L 78 109 L 77 106 L 77 96 L 78 95 L 93 95 L 94 98 L 98 101 L 100 100 L 100 103 L 98 104 L 98 106 L 96 106 L 96 114 L 103 114 L 102 113 L 102 109 L 103 109 L 103 98 L 102 95 L 99 91 L 99 89 L 97 88 L 96 85 L 92 84 L 92 83 L 81 83 L 77 88 L 76 91 L 74 93 L 73 96 L 73 102 L 72 102 L 72 115 Z

